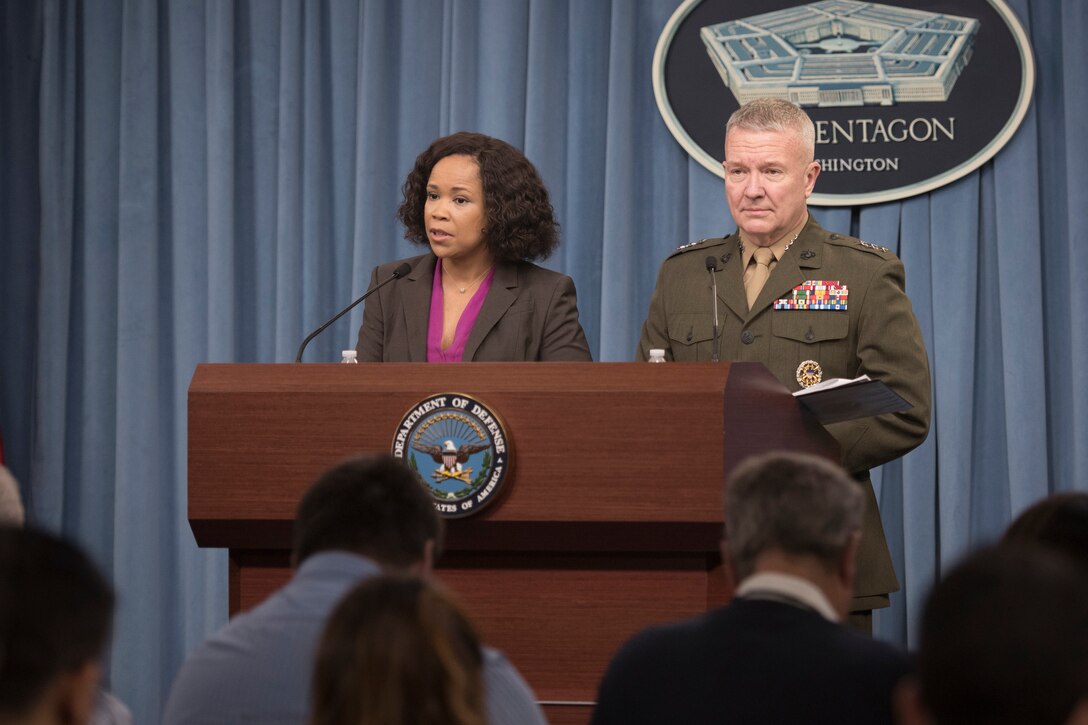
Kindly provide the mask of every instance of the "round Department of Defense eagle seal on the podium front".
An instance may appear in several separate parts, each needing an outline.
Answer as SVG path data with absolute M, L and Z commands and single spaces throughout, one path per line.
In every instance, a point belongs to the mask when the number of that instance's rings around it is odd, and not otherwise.
M 446 518 L 470 516 L 498 499 L 510 468 L 502 420 L 460 393 L 438 393 L 412 406 L 397 426 L 392 453 L 419 475 Z

